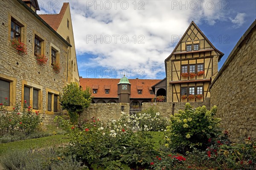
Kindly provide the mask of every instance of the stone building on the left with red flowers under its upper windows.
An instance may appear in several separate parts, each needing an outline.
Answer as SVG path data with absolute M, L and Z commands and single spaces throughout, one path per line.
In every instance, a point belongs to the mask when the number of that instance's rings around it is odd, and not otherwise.
M 70 20 L 71 29 L 69 6 L 64 4 L 64 7 L 62 20 Z M 69 56 L 73 55 L 70 49 L 75 51 L 73 35 L 61 36 L 36 14 L 40 10 L 37 0 L 1 0 L 0 8 L 0 103 L 6 102 L 12 110 L 16 101 L 26 100 L 26 107 L 30 105 L 34 111 L 58 113 L 61 89 L 79 76 L 77 70 L 68 69 L 68 59 L 73 59 L 73 64 L 77 65 L 76 57 Z M 61 33 L 64 28 L 60 24 L 58 29 Z M 13 48 L 14 40 L 26 45 L 25 54 Z M 47 58 L 46 64 L 38 64 L 40 55 Z M 59 66 L 59 73 L 54 66 Z

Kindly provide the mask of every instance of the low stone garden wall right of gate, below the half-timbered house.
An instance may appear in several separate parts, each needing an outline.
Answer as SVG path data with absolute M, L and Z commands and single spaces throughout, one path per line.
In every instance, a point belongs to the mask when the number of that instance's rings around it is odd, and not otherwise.
M 143 103 L 142 109 L 147 109 L 152 105 L 155 105 L 160 112 L 161 116 L 169 117 L 172 114 L 174 107 L 174 113 L 178 113 L 179 110 L 185 109 L 186 102 L 157 102 L 157 103 Z M 204 102 L 190 102 L 193 108 L 205 105 L 207 109 L 210 109 L 210 98 L 206 98 Z

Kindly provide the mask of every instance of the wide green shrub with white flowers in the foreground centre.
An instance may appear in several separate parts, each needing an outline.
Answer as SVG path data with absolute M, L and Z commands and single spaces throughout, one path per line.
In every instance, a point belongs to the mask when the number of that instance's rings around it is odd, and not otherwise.
M 129 117 L 122 113 L 120 119 L 107 125 L 93 117 L 81 127 L 70 127 L 72 137 L 68 155 L 94 169 L 147 167 L 159 153 L 153 148 L 147 127 L 139 127 L 140 131 L 134 133 Z

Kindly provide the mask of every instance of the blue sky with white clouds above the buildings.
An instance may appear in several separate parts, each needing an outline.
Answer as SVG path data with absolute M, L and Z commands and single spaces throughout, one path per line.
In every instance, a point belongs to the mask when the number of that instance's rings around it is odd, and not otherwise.
M 225 55 L 256 19 L 255 0 L 38 0 L 39 14 L 70 3 L 79 75 L 163 79 L 164 60 L 193 20 Z

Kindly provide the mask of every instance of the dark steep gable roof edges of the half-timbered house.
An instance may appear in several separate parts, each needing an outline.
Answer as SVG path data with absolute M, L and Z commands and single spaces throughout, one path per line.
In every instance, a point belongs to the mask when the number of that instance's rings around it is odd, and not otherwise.
M 183 36 L 180 38 L 180 41 L 177 43 L 176 47 L 174 48 L 174 50 L 172 51 L 172 54 L 169 55 L 169 57 L 167 57 L 165 59 L 165 62 L 168 61 L 172 55 L 175 53 L 175 51 L 177 50 L 177 47 L 180 45 L 181 41 L 186 37 L 186 34 L 188 34 L 189 29 L 194 26 L 195 28 L 197 28 L 198 32 L 201 34 L 202 37 L 204 37 L 204 39 L 209 43 L 209 45 L 212 47 L 212 50 L 217 51 L 220 54 L 219 60 L 221 59 L 221 57 L 224 55 L 221 51 L 219 51 L 217 48 L 215 48 L 212 43 L 208 40 L 208 38 L 204 35 L 204 33 L 198 28 L 198 26 L 194 23 L 194 21 L 192 21 L 189 25 L 189 27 L 187 28 L 187 30 L 185 31 L 185 33 L 183 34 Z M 200 51 L 206 51 L 206 50 L 198 50 L 198 51 L 190 51 L 190 52 L 200 52 Z M 209 49 L 207 50 L 209 51 Z M 186 52 L 187 53 L 187 52 Z

